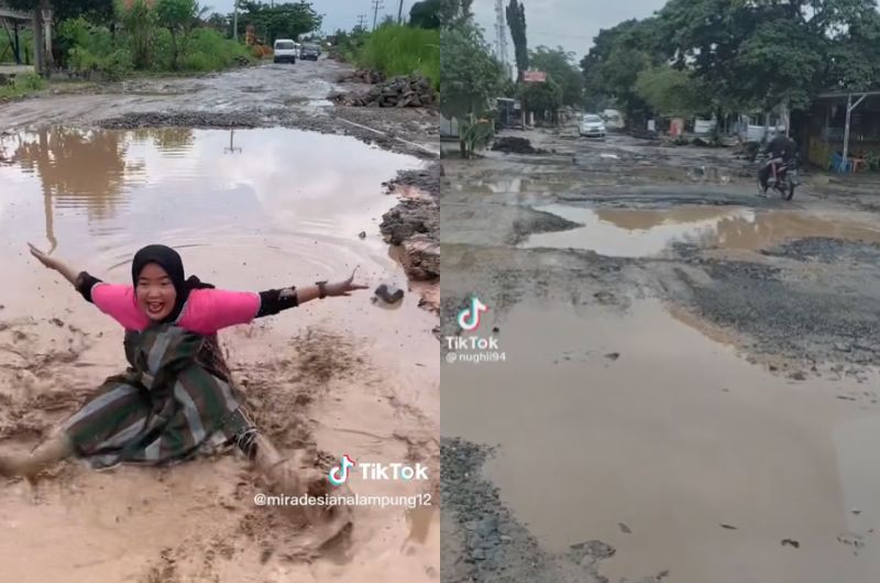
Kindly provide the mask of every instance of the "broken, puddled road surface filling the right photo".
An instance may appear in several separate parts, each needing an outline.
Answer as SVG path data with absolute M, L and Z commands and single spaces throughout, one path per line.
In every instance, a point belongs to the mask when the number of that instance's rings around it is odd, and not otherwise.
M 442 366 L 443 581 L 880 576 L 877 184 L 512 135 L 444 161 L 443 333 L 506 359 Z

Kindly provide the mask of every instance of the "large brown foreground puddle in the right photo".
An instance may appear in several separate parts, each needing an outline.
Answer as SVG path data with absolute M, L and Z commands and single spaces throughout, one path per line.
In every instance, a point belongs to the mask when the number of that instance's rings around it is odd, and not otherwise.
M 522 301 L 484 323 L 505 362 L 443 365 L 443 435 L 498 444 L 517 518 L 551 551 L 613 544 L 615 583 L 878 580 L 880 414 L 836 398 L 866 387 L 781 378 L 691 322 Z

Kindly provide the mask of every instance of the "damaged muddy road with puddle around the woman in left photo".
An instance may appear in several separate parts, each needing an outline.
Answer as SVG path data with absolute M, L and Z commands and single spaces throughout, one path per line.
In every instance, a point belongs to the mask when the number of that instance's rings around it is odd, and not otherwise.
M 221 341 L 257 425 L 280 449 L 316 444 L 323 469 L 343 453 L 425 464 L 427 482 L 355 475 L 350 484 L 366 496 L 427 495 L 431 506 L 356 507 L 348 543 L 319 556 L 304 550 L 283 509 L 255 504 L 266 487 L 237 454 L 108 472 L 67 462 L 35 486 L 3 482 L 7 578 L 439 579 L 438 316 L 426 304 L 439 266 L 410 253 L 436 241 L 439 174 L 427 146 L 406 140 L 426 140 L 433 114 L 374 113 L 386 133 L 374 141 L 341 121 L 359 113 L 322 102 L 341 70 L 324 61 L 266 65 L 0 110 L 9 129 L 0 142 L 0 438 L 33 446 L 124 366 L 122 330 L 36 265 L 26 241 L 122 283 L 134 251 L 156 241 L 228 289 L 302 285 L 360 265 L 371 288 L 411 284 L 413 293 L 395 306 L 371 292 L 316 301 Z

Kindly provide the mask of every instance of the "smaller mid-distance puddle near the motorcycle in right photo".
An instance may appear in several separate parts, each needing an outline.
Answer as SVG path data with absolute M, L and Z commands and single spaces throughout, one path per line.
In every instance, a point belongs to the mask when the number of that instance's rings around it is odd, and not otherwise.
M 532 234 L 520 246 L 585 249 L 609 256 L 654 256 L 676 242 L 754 251 L 805 237 L 880 241 L 880 231 L 871 227 L 790 210 L 755 211 L 705 206 L 595 210 L 565 205 L 538 207 L 536 210 L 583 227 Z

